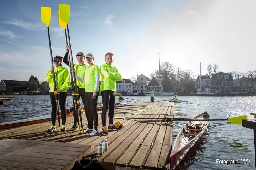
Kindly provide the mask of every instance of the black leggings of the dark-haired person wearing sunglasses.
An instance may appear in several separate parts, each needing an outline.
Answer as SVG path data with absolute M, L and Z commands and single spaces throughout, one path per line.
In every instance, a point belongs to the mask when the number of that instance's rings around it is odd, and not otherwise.
M 50 92 L 50 99 L 51 99 L 51 104 L 52 104 L 52 124 L 55 126 L 55 122 L 56 122 L 56 114 L 57 114 L 57 107 L 56 107 L 56 102 L 55 102 L 55 95 L 53 92 Z M 59 108 L 61 111 L 61 121 L 62 121 L 62 125 L 66 124 L 66 99 L 67 99 L 67 92 L 61 92 L 60 94 L 57 95 L 57 99 L 59 101 Z

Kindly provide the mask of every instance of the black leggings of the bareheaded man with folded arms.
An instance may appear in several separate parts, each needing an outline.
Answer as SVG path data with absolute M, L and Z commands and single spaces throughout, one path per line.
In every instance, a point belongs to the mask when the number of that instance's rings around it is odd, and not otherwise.
M 114 111 L 115 111 L 115 100 L 116 95 L 114 91 L 105 90 L 101 92 L 101 97 L 103 98 L 103 108 L 101 113 L 102 126 L 106 126 L 106 113 L 108 112 L 109 107 L 109 124 L 113 124 Z

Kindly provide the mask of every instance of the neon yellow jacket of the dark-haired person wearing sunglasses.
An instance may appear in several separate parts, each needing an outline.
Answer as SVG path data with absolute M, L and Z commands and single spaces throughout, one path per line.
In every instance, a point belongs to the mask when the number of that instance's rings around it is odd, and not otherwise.
M 67 92 L 67 88 L 70 86 L 68 69 L 63 66 L 54 67 L 54 73 L 57 90 L 61 89 L 63 92 Z M 53 73 L 50 70 L 46 74 L 46 82 L 49 83 L 50 92 L 54 92 Z

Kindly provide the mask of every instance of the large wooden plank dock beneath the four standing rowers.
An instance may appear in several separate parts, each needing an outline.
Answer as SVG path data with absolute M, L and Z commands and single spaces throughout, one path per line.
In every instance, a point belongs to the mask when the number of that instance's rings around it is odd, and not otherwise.
M 82 134 L 78 130 L 69 131 L 73 125 L 73 117 L 67 118 L 67 130 L 62 133 L 59 133 L 58 127 L 56 131 L 46 133 L 49 125 L 51 125 L 50 121 L 1 131 L 0 162 L 6 161 L 10 164 L 0 164 L 0 169 L 35 169 L 34 164 L 37 164 L 37 167 L 45 169 L 47 167 L 55 169 L 56 167 L 56 169 L 68 170 L 75 164 L 75 159 L 93 158 L 97 153 L 98 143 L 102 142 L 103 139 L 108 140 L 108 151 L 104 152 L 102 157 L 99 158 L 99 165 L 105 169 L 171 169 L 172 124 L 170 122 L 142 123 L 136 120 L 140 120 L 140 118 L 173 118 L 174 103 L 152 102 L 117 105 L 114 116 L 125 117 L 125 119 L 114 119 L 114 123 L 120 121 L 125 128 L 119 131 L 110 131 L 109 135 L 106 136 L 101 134 L 101 111 L 98 111 L 98 114 L 99 135 L 96 136 L 89 136 L 89 133 Z M 129 117 L 137 119 L 129 119 Z M 87 120 L 84 114 L 82 118 L 83 128 L 86 129 Z M 56 120 L 58 126 L 57 122 Z M 108 125 L 108 123 L 107 120 L 106 124 Z M 7 141 L 1 144 L 1 141 L 9 139 L 16 139 L 13 141 L 16 144 L 12 145 L 15 146 L 14 149 L 8 147 L 10 145 Z M 23 144 L 21 145 L 18 141 Z M 47 148 L 47 145 L 52 147 Z M 70 149 L 62 149 L 62 145 Z M 23 148 L 18 150 L 18 146 Z M 32 149 L 32 146 L 40 149 Z M 24 150 L 27 154 L 23 154 Z M 8 152 L 8 154 L 2 152 Z M 65 159 L 63 156 L 59 156 L 62 152 Z M 49 159 L 51 161 L 47 162 L 44 158 L 47 156 L 46 154 L 53 155 L 54 159 Z M 39 157 L 45 159 L 45 162 L 37 162 L 35 159 Z M 61 163 L 55 159 L 61 159 Z M 33 163 L 32 160 L 36 162 Z

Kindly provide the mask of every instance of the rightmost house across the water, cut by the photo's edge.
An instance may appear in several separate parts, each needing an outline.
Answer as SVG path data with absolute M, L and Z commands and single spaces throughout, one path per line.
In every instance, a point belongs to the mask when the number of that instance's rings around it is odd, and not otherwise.
M 248 78 L 243 76 L 240 79 L 233 80 L 233 86 L 234 91 L 240 92 L 240 93 L 248 93 L 252 92 L 252 84 L 248 81 Z M 256 89 L 256 81 L 254 83 L 254 89 Z

